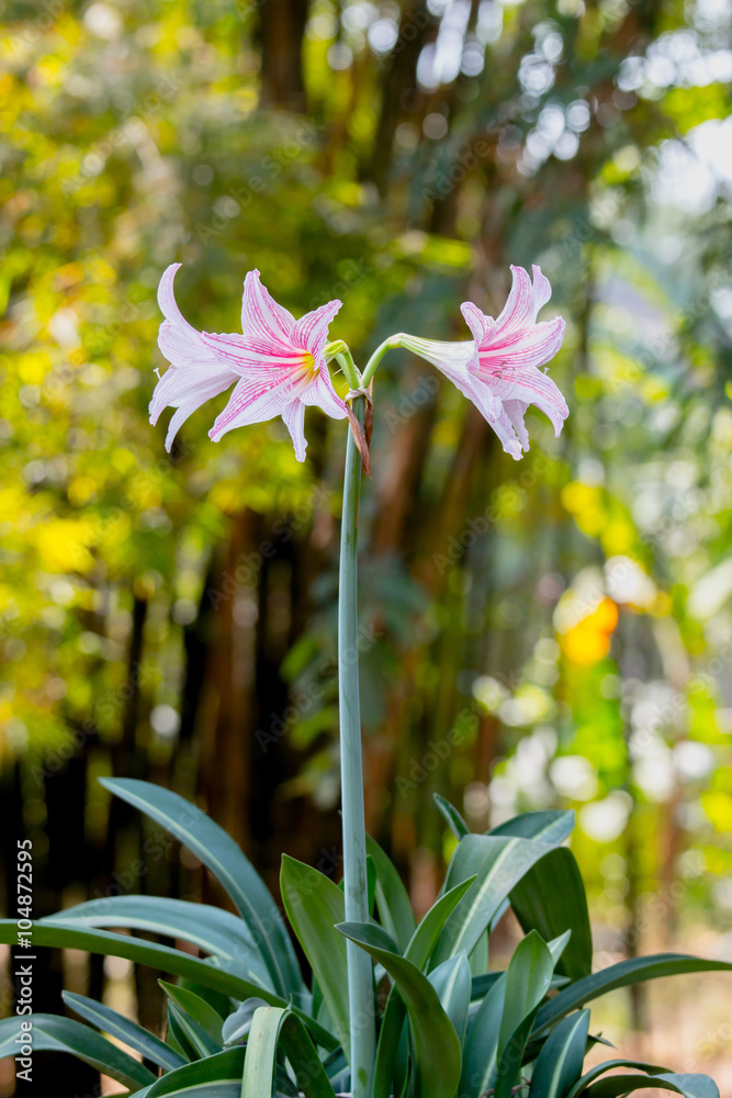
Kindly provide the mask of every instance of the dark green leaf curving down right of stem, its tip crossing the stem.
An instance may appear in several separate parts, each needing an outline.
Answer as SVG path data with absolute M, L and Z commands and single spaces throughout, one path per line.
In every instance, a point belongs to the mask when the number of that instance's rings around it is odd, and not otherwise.
M 381 927 L 346 922 L 338 929 L 379 961 L 399 989 L 409 1018 L 416 1094 L 419 1098 L 453 1095 L 460 1078 L 460 1042 L 432 985 L 412 961 L 388 949 L 388 935 Z

